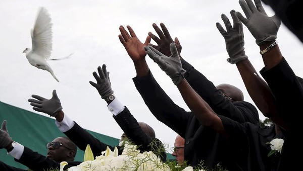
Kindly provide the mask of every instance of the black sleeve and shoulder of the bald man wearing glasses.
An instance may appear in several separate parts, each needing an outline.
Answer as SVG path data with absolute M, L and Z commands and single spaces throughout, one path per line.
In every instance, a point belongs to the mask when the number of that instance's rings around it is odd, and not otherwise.
M 248 102 L 232 103 L 217 90 L 216 86 L 192 65 L 181 60 L 183 69 L 186 70 L 184 77 L 192 89 L 203 98 L 218 115 L 226 116 L 239 123 L 259 123 L 259 114 L 256 107 Z

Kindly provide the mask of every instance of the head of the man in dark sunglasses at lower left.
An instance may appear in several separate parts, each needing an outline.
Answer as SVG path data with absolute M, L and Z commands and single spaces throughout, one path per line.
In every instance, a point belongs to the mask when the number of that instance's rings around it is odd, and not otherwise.
M 68 153 L 71 149 L 67 146 L 68 140 L 62 137 L 55 138 L 51 143 L 48 143 L 46 157 L 57 162 L 67 161 Z

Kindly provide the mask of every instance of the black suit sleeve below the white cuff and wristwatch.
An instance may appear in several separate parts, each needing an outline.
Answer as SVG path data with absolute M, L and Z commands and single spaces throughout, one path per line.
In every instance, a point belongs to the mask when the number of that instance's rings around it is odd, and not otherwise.
M 162 161 L 166 160 L 165 148 L 162 142 L 157 138 L 148 136 L 126 107 L 121 113 L 114 116 L 114 119 L 131 142 L 139 146 L 140 152 L 153 151 Z

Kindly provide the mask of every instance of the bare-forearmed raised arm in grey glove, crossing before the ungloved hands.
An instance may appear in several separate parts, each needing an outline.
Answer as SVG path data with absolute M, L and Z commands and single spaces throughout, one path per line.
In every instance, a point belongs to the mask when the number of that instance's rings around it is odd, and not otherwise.
M 165 73 L 170 76 L 177 85 L 184 102 L 204 126 L 209 126 L 225 135 L 223 124 L 218 115 L 211 107 L 190 87 L 184 79 L 184 69 L 181 66 L 180 57 L 174 43 L 170 44 L 171 56 L 165 56 L 151 46 L 144 49 L 148 56 L 153 59 Z

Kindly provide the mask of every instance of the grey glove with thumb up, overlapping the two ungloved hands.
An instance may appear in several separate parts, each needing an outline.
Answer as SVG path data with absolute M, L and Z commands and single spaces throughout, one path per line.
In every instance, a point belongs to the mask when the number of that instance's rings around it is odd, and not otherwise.
M 174 84 L 179 84 L 184 79 L 185 70 L 182 68 L 181 60 L 175 43 L 170 44 L 171 56 L 165 56 L 151 46 L 144 46 L 147 55 L 158 63 L 160 68 L 171 77 Z

